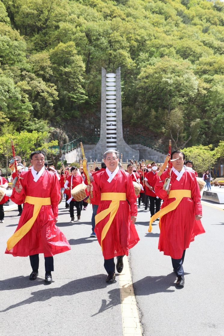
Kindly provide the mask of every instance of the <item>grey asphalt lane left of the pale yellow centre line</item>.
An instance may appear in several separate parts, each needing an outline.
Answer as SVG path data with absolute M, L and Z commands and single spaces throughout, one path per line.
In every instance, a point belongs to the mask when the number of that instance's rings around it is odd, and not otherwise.
M 53 282 L 44 283 L 44 258 L 39 276 L 30 281 L 29 257 L 4 254 L 7 239 L 18 223 L 17 210 L 5 213 L 0 235 L 0 335 L 123 335 L 119 280 L 108 285 L 101 248 L 90 238 L 91 206 L 81 222 L 68 223 L 70 215 L 60 204 L 58 227 L 72 249 L 54 256 Z M 4 207 L 6 210 L 7 207 Z

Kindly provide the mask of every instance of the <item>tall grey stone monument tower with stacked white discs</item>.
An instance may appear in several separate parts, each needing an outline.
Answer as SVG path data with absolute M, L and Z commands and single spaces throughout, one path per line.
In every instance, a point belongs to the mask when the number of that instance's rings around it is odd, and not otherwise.
M 123 162 L 139 160 L 139 151 L 131 148 L 123 139 L 120 67 L 116 69 L 116 74 L 107 74 L 102 68 L 100 139 L 93 149 L 86 151 L 86 157 L 101 161 L 103 153 L 109 149 L 122 153 Z

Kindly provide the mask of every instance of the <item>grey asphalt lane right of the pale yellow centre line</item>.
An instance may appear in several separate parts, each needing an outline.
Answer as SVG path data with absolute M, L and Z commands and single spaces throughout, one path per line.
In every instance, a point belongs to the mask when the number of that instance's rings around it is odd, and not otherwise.
M 223 209 L 223 207 L 222 207 Z M 140 242 L 131 250 L 134 292 L 145 336 L 224 335 L 224 211 L 203 204 L 205 234 L 184 259 L 185 286 L 175 286 L 171 258 L 158 250 L 159 225 L 148 233 L 149 211 L 137 217 Z

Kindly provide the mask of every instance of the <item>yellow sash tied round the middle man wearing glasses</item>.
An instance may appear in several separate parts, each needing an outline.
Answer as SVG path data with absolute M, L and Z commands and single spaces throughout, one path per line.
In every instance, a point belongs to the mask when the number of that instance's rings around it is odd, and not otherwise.
M 104 219 L 108 214 L 110 214 L 108 222 L 104 225 L 101 233 L 101 250 L 103 250 L 103 239 L 105 238 L 110 225 L 118 211 L 120 201 L 126 201 L 125 193 L 102 193 L 101 201 L 112 201 L 109 205 L 109 208 L 102 210 L 95 216 L 95 223 L 99 223 Z M 96 225 L 95 224 L 95 225 Z

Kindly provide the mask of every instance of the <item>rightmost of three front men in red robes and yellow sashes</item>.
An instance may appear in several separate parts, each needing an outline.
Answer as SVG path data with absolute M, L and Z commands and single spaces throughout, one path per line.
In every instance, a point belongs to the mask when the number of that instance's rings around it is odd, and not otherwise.
M 202 207 L 199 186 L 195 174 L 183 168 L 184 158 L 184 154 L 180 151 L 171 153 L 171 159 L 174 161 L 172 161 L 170 192 L 168 194 L 163 190 L 164 181 L 169 177 L 168 171 L 165 171 L 158 177 L 154 186 L 156 195 L 164 202 L 161 210 L 150 220 L 151 225 L 151 222 L 160 216 L 159 250 L 171 256 L 173 269 L 177 275 L 176 285 L 180 287 L 184 286 L 185 250 L 196 235 L 205 232 L 200 222 Z

